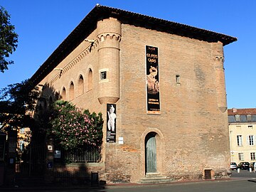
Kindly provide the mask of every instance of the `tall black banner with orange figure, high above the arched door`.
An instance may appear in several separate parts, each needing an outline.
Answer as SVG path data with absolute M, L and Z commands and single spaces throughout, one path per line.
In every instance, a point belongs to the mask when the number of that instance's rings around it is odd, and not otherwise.
M 158 48 L 146 46 L 146 112 L 160 114 Z

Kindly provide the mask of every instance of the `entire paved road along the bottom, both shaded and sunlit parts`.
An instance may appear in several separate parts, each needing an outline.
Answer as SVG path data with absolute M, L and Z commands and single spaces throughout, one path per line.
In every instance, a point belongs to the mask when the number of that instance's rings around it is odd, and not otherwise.
M 13 188 L 0 191 L 38 191 L 38 192 L 254 192 L 256 191 L 256 174 L 241 170 L 232 171 L 228 180 L 168 183 L 161 185 L 117 185 L 105 188 Z

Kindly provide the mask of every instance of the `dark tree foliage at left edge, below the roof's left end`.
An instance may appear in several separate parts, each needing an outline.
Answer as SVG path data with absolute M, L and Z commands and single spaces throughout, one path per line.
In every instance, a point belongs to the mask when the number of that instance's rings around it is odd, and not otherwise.
M 0 123 L 3 131 L 16 127 L 31 127 L 40 93 L 29 80 L 8 85 L 0 90 Z M 6 130 L 5 130 L 6 129 Z

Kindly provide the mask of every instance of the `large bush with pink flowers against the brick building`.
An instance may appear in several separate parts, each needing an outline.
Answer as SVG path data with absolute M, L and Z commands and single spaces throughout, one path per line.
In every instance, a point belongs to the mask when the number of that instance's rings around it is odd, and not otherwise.
M 80 111 L 70 102 L 55 102 L 53 116 L 50 117 L 55 146 L 63 149 L 75 149 L 79 146 L 100 146 L 102 144 L 102 114 L 85 110 Z

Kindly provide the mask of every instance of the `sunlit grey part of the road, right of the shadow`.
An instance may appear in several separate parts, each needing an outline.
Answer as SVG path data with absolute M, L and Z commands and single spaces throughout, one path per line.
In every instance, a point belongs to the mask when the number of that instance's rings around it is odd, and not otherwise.
M 134 186 L 130 188 L 106 188 L 98 190 L 102 192 L 254 192 L 256 191 L 256 174 L 247 170 L 232 171 L 232 176 L 229 180 L 223 181 L 199 181 L 199 182 L 184 182 L 184 183 L 169 183 L 155 186 Z

